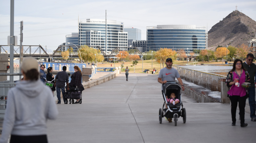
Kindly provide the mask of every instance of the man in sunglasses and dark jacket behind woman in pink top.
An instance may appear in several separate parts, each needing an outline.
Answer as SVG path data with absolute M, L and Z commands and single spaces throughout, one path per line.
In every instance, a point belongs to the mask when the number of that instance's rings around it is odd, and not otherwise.
M 249 92 L 249 105 L 250 105 L 250 117 L 251 117 L 251 121 L 256 121 L 256 115 L 255 115 L 255 110 L 256 110 L 256 102 L 255 102 L 255 81 L 254 81 L 254 77 L 255 77 L 255 73 L 256 73 L 256 65 L 254 63 L 252 63 L 254 59 L 253 54 L 249 53 L 246 56 L 246 60 L 243 63 L 244 68 L 248 71 L 249 76 L 250 76 L 250 83 L 251 86 L 248 88 L 248 92 Z

